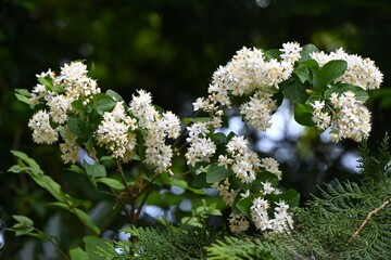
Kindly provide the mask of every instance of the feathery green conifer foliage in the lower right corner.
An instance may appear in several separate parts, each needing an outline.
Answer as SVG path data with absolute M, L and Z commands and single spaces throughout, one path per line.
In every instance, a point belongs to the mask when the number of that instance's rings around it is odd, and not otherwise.
M 210 259 L 389 259 L 391 153 L 383 139 L 377 156 L 362 147 L 361 181 L 327 184 L 320 197 L 297 209 L 286 236 L 228 236 L 207 248 Z

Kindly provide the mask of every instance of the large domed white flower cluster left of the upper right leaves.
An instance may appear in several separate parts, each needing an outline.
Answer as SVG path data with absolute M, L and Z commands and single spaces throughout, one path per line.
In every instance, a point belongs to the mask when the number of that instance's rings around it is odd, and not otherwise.
M 268 60 L 261 50 L 242 48 L 213 74 L 209 96 L 198 99 L 193 103 L 194 110 L 215 112 L 218 106 L 231 105 L 230 95 L 250 95 L 250 101 L 240 106 L 241 114 L 253 127 L 267 129 L 277 108 L 272 100 L 273 92 L 291 76 L 301 50 L 299 43 L 288 42 L 282 44 L 279 60 Z

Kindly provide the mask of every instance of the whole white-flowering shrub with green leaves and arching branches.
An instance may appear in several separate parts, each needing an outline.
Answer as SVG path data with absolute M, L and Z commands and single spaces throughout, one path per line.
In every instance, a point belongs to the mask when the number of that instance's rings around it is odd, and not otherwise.
M 71 170 L 85 173 L 96 187 L 105 185 L 124 207 L 130 224 L 137 224 L 153 188 L 177 185 L 204 194 L 203 188 L 214 187 L 230 209 L 230 232 L 255 226 L 267 236 L 294 229 L 291 209 L 299 205 L 299 194 L 279 188 L 282 172 L 277 160 L 261 158 L 244 136 L 219 131 L 226 112 L 236 113 L 237 108 L 250 127 L 265 131 L 286 99 L 299 123 L 330 129 L 333 142 L 361 142 L 371 128 L 365 106 L 367 90 L 378 89 L 382 82 L 373 61 L 342 49 L 327 54 L 313 44 L 297 42 L 267 51 L 243 47 L 213 74 L 207 95 L 193 103 L 197 116 L 180 120 L 153 105 L 152 94 L 144 90 L 138 90 L 128 103 L 112 90 L 102 93 L 81 62 L 65 64 L 58 76 L 49 69 L 37 78 L 39 83 L 31 91 L 16 90 L 17 99 L 36 110 L 28 121 L 33 141 L 60 142 L 63 161 L 74 164 Z M 91 164 L 79 157 L 80 151 L 86 151 Z M 186 160 L 187 173 L 193 173 L 191 183 L 176 172 L 180 167 L 174 170 L 173 161 L 178 161 L 174 158 Z M 108 161 L 116 166 L 116 178 L 108 176 Z M 130 169 L 125 171 L 126 167 Z M 133 167 L 136 173 L 127 176 Z M 24 170 L 29 172 L 29 168 Z M 60 200 L 68 196 L 55 192 Z M 99 234 L 88 214 L 73 211 L 70 205 L 61 204 Z M 205 208 L 202 210 L 219 212 Z M 202 210 L 194 214 L 205 218 Z M 182 223 L 200 224 L 190 220 L 187 217 Z

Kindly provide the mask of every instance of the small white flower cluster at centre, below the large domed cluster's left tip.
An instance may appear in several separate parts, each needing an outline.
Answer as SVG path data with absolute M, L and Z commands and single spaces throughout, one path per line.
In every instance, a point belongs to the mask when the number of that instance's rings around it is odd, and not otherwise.
M 197 162 L 211 161 L 211 157 L 216 152 L 216 145 L 210 138 L 206 138 L 206 134 L 210 132 L 209 123 L 194 122 L 187 127 L 187 129 L 189 136 L 186 139 L 186 142 L 190 145 L 185 154 L 187 164 L 194 167 Z

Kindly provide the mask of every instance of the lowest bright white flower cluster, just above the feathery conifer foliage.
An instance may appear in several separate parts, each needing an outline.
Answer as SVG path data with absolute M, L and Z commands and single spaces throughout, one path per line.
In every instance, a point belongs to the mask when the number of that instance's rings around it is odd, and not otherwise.
M 253 206 L 250 208 L 251 219 L 257 230 L 282 233 L 289 232 L 293 227 L 293 219 L 288 212 L 289 205 L 283 200 L 276 203 L 276 205 L 274 218 L 269 218 L 269 202 L 261 197 L 253 200 Z

